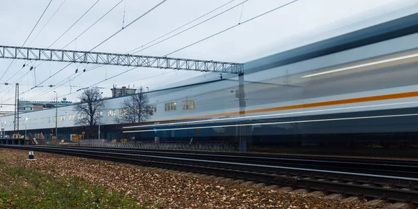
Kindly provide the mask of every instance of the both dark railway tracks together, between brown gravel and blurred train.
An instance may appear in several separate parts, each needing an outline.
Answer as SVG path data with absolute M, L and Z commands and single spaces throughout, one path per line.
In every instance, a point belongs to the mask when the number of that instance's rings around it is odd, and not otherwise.
M 221 153 L 160 152 L 115 148 L 77 148 L 48 146 L 1 146 L 46 153 L 111 160 L 147 167 L 159 167 L 226 178 L 251 180 L 320 191 L 324 194 L 361 196 L 418 205 L 417 162 L 358 159 L 292 159 L 261 155 Z M 302 157 L 304 158 L 304 157 Z

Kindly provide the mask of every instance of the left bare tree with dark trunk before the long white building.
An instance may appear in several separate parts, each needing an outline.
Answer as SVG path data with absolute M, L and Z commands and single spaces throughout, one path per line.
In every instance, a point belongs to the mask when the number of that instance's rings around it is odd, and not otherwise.
M 80 103 L 74 106 L 74 111 L 77 113 L 75 125 L 88 126 L 89 130 L 93 131 L 95 125 L 98 124 L 96 115 L 98 109 L 104 107 L 102 93 L 98 87 L 87 88 L 78 98 Z

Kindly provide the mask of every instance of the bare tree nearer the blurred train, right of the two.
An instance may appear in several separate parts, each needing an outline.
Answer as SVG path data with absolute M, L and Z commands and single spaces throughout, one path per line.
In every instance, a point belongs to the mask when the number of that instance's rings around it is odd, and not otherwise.
M 149 104 L 148 95 L 142 86 L 138 93 L 131 95 L 121 102 L 121 114 L 115 118 L 116 123 L 140 123 L 148 121 L 154 114 Z

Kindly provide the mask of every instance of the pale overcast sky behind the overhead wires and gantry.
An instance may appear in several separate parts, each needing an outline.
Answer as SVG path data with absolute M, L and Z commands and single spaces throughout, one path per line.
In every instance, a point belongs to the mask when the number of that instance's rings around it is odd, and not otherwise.
M 64 3 L 63 1 L 52 1 L 45 15 L 24 45 L 25 47 L 49 47 L 52 42 L 74 24 L 97 0 L 66 0 Z M 104 13 L 107 13 L 119 1 L 99 0 L 51 48 L 63 48 L 79 36 L 82 31 L 87 29 L 88 26 L 91 26 L 98 18 L 102 17 Z M 168 0 L 93 51 L 127 53 L 229 1 L 231 0 Z M 412 2 L 410 0 L 300 0 L 247 24 L 241 24 L 219 36 L 171 54 L 170 56 L 232 62 L 251 61 L 261 56 L 281 52 L 286 48 L 283 46 L 291 46 L 288 43 L 297 45 L 298 42 L 302 42 L 301 40 L 309 40 L 311 39 L 311 34 L 325 33 L 325 31 L 338 29 L 344 24 L 361 22 L 368 17 L 387 13 L 389 10 L 396 10 L 396 8 L 400 7 L 399 3 L 405 3 L 406 1 Z M 95 26 L 73 41 L 68 47 L 65 47 L 65 49 L 91 50 L 102 42 L 102 40 L 121 29 L 124 15 L 125 25 L 127 25 L 159 2 L 160 0 L 122 1 L 114 10 L 100 20 L 98 24 L 95 24 Z M 223 10 L 241 2 L 242 0 L 232 1 L 189 26 L 206 20 L 208 17 L 221 13 Z M 240 20 L 244 22 L 251 17 L 265 13 L 272 8 L 288 2 L 290 0 L 249 0 L 243 6 L 237 6 L 227 13 L 219 15 L 185 33 L 181 33 L 179 36 L 145 49 L 138 54 L 150 56 L 169 54 L 192 42 L 238 24 Z M 22 46 L 48 3 L 49 0 L 1 1 L 0 45 Z M 52 20 L 46 24 L 61 3 L 63 3 L 62 7 L 54 15 Z M 45 28 L 41 31 L 43 26 Z M 0 76 L 8 68 L 11 61 L 11 59 L 0 59 Z M 25 63 L 26 67 L 22 68 L 22 65 Z M 50 75 L 61 70 L 68 63 L 41 63 L 42 61 L 16 60 L 3 78 L 0 79 L 0 83 L 8 82 L 14 84 L 15 82 L 19 82 L 20 98 L 24 100 L 52 100 L 55 98 L 55 94 L 52 88 L 46 86 L 56 85 L 68 77 L 74 77 L 75 69 L 77 68 L 81 71 L 84 68 L 88 69 L 94 66 L 71 64 L 68 68 L 49 78 Z M 31 65 L 39 66 L 36 70 L 29 72 L 29 66 Z M 55 91 L 58 92 L 59 97 L 66 95 L 65 97 L 68 100 L 74 101 L 77 100 L 77 89 L 90 86 L 127 69 L 129 68 L 102 66 L 95 70 L 85 72 L 83 75 L 79 75 L 75 79 L 70 80 L 70 82 L 67 79 L 67 82 L 63 86 L 56 88 Z M 201 72 L 175 72 L 154 68 L 137 68 L 114 79 L 106 80 L 98 84 L 98 86 L 103 87 L 102 91 L 104 96 L 110 96 L 111 92 L 109 88 L 113 84 L 116 84 L 118 87 L 127 86 L 128 84 L 131 87 L 133 85 L 135 87 L 147 86 L 151 91 L 196 75 L 201 75 Z M 20 77 L 22 79 L 18 80 Z M 44 87 L 30 90 L 31 87 L 45 79 L 47 80 L 40 85 Z M 14 93 L 14 86 L 12 88 L 10 85 L 5 86 L 1 84 L 0 102 L 13 103 Z M 3 106 L 0 111 L 6 109 Z

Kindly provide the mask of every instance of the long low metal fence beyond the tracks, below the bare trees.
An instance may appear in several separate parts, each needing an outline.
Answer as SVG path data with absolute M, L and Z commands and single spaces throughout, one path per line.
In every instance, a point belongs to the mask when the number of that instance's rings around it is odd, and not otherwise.
M 155 150 L 200 150 L 218 152 L 238 152 L 239 146 L 235 143 L 223 142 L 188 142 L 188 141 L 126 141 L 114 142 L 97 139 L 84 139 L 77 142 L 78 146 L 141 148 Z

